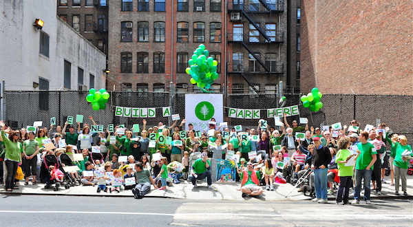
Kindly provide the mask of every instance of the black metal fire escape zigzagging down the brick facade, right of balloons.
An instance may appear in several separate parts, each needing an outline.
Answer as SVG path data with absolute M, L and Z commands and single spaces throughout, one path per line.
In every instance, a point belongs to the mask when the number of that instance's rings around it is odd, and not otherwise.
M 228 12 L 231 21 L 237 23 L 246 19 L 249 22 L 248 28 L 252 25 L 253 28 L 255 28 L 253 32 L 257 32 L 257 35 L 252 37 L 250 34 L 244 33 L 244 28 L 242 28 L 242 32 L 235 32 L 235 30 L 233 30 L 232 33 L 228 33 L 228 43 L 242 45 L 242 47 L 248 51 L 248 56 L 255 58 L 255 61 L 264 69 L 266 74 L 283 74 L 284 64 L 273 64 L 270 59 L 265 58 L 264 50 L 271 50 L 275 48 L 275 45 L 284 43 L 284 32 L 279 29 L 266 30 L 266 22 L 263 21 L 263 19 L 265 16 L 271 18 L 272 14 L 282 14 L 284 12 L 284 1 L 267 2 L 268 1 L 264 0 L 255 0 L 249 1 L 247 4 L 243 3 L 242 0 L 234 0 L 228 3 Z M 279 25 L 277 24 L 277 26 Z M 248 85 L 255 92 L 259 92 L 254 86 L 254 84 L 258 84 L 254 79 L 254 75 L 257 74 L 255 67 L 251 70 L 249 65 L 245 67 L 244 64 L 233 61 L 228 65 L 228 69 L 230 73 L 241 74 Z

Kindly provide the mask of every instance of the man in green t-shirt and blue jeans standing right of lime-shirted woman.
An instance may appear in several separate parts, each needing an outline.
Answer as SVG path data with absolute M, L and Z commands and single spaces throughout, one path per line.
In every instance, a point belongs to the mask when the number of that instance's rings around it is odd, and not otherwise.
M 354 188 L 354 200 L 351 204 L 360 203 L 361 179 L 364 179 L 364 200 L 366 204 L 370 204 L 370 180 L 372 178 L 372 169 L 374 162 L 377 160 L 377 151 L 373 144 L 367 142 L 368 132 L 362 131 L 359 136 L 359 144 L 357 144 L 356 164 L 356 187 Z

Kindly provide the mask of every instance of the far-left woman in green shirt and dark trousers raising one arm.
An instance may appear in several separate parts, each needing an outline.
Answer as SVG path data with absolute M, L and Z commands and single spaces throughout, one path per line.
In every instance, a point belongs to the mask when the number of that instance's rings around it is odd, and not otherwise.
M 6 167 L 7 167 L 7 177 L 6 177 L 6 191 L 13 191 L 14 188 L 14 179 L 16 178 L 17 167 L 19 162 L 21 162 L 21 151 L 23 151 L 20 140 L 19 131 L 10 131 L 8 138 L 4 129 L 6 126 L 4 122 L 0 122 L 1 126 L 1 138 L 6 147 L 6 154 L 4 157 Z

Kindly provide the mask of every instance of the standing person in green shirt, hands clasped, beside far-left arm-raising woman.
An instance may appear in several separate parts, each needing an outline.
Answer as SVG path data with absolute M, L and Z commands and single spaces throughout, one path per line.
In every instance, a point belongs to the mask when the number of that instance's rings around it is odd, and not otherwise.
M 34 140 L 34 132 L 30 131 L 28 134 L 29 139 L 23 142 L 23 157 L 25 158 L 24 185 L 29 184 L 30 173 L 32 173 L 33 177 L 32 184 L 36 184 L 37 153 L 39 153 L 39 142 Z

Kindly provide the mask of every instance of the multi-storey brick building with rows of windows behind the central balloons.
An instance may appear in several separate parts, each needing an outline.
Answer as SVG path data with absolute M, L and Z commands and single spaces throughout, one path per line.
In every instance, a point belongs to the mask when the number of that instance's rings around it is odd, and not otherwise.
M 297 39 L 288 47 L 286 29 L 293 17 L 296 32 L 297 0 L 289 15 L 279 0 L 109 3 L 108 89 L 169 91 L 173 83 L 178 92 L 196 91 L 185 69 L 201 43 L 218 61 L 215 92 L 275 93 L 279 81 L 297 85 Z M 294 67 L 287 72 L 290 49 Z

